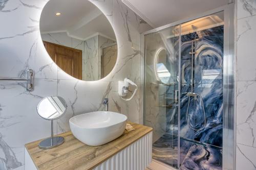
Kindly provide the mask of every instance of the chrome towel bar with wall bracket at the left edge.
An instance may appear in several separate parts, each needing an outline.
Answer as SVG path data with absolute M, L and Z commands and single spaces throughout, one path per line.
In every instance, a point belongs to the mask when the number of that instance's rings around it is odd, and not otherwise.
M 28 69 L 27 70 L 27 78 L 0 78 L 1 80 L 13 80 L 13 81 L 27 81 L 27 90 L 33 91 L 34 90 L 34 70 Z

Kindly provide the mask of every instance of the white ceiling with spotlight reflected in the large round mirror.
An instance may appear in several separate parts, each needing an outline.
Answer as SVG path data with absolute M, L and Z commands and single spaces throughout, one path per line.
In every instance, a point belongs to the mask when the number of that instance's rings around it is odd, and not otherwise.
M 57 12 L 61 15 L 56 16 Z M 97 34 L 116 39 L 108 19 L 87 0 L 50 0 L 41 13 L 40 32 L 67 32 L 69 36 L 81 40 Z

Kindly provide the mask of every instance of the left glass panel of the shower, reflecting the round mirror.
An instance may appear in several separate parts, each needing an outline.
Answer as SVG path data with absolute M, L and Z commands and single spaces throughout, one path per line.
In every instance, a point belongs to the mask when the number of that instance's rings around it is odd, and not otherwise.
M 153 128 L 153 159 L 178 168 L 179 36 L 175 28 L 144 39 L 144 125 Z

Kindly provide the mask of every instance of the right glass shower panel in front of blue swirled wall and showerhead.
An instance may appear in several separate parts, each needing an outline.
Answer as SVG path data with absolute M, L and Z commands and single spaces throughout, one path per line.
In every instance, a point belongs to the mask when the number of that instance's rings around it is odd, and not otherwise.
M 223 17 L 219 12 L 181 25 L 181 169 L 222 168 Z

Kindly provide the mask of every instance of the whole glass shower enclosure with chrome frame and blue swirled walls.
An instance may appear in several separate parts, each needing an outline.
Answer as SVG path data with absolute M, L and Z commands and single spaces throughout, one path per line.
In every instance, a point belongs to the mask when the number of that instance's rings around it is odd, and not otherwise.
M 232 169 L 233 5 L 142 35 L 144 125 L 153 159 L 176 169 Z

